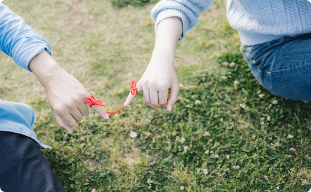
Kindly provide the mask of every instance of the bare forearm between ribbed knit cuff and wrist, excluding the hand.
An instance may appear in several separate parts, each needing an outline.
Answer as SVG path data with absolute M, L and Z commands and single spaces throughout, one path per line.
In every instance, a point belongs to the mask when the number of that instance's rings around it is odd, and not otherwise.
M 156 28 L 153 57 L 174 59 L 175 46 L 183 32 L 182 21 L 179 17 L 163 19 Z M 173 63 L 173 62 L 172 62 Z

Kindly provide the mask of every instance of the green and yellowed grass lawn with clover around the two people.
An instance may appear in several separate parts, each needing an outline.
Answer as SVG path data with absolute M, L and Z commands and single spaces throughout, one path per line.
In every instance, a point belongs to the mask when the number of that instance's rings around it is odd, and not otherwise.
M 114 2 L 118 2 L 113 0 Z M 154 45 L 154 4 L 4 0 L 50 42 L 53 58 L 107 110 L 119 109 Z M 35 109 L 42 149 L 66 192 L 309 192 L 310 102 L 280 98 L 252 76 L 239 36 L 215 0 L 176 48 L 172 112 L 142 93 L 105 121 L 94 111 L 72 135 L 58 128 L 35 76 L 0 53 L 0 99 Z M 130 131 L 138 136 L 131 138 Z

